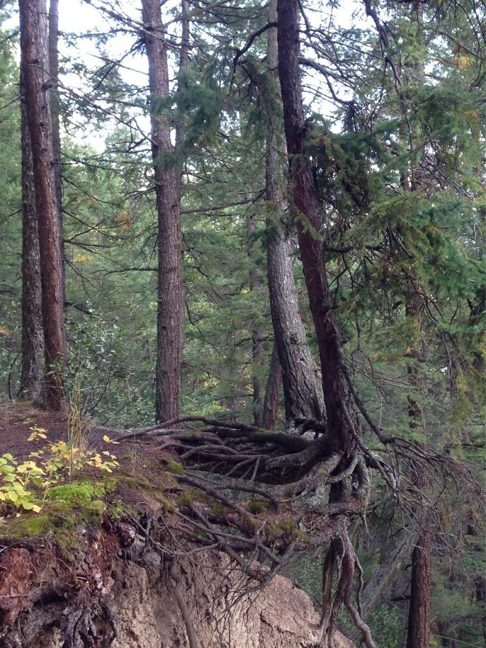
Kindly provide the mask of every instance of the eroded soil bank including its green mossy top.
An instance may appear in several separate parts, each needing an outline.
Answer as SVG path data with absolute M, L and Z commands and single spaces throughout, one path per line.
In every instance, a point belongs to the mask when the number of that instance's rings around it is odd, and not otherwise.
M 40 448 L 33 426 L 62 438 L 65 420 L 0 411 L 0 456 Z M 106 431 L 92 429 L 97 447 Z M 119 454 L 116 473 L 87 470 L 54 486 L 40 513 L 0 521 L 1 648 L 314 648 L 319 615 L 292 582 L 265 588 L 217 547 L 173 523 L 185 492 L 153 448 Z M 162 465 L 162 469 L 160 468 Z M 158 472 L 157 472 L 158 471 Z M 187 495 L 187 494 L 186 494 Z M 187 499 L 187 497 L 186 497 Z M 353 645 L 338 635 L 336 648 Z

